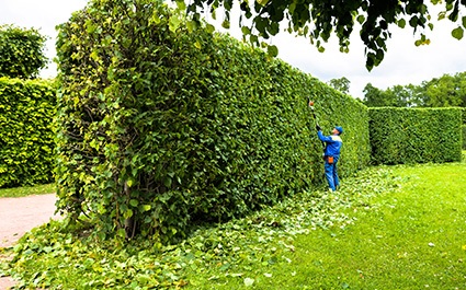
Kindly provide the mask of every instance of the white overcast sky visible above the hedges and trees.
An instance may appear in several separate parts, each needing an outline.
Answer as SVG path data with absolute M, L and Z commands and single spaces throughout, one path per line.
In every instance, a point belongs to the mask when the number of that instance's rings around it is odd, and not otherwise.
M 72 11 L 86 5 L 87 0 L 0 0 L 0 24 L 15 24 L 20 27 L 34 27 L 49 37 L 46 56 L 55 57 L 55 26 L 66 22 Z M 431 12 L 432 13 L 432 12 Z M 435 15 L 435 14 L 434 14 Z M 363 89 L 372 83 L 379 89 L 396 84 L 420 84 L 445 73 L 466 71 L 466 40 L 451 36 L 455 26 L 450 21 L 441 21 L 433 32 L 428 32 L 431 44 L 416 47 L 412 31 L 409 27 L 394 27 L 388 51 L 384 61 L 371 72 L 365 68 L 364 47 L 354 31 L 350 54 L 339 50 L 332 36 L 323 54 L 308 44 L 307 39 L 295 38 L 283 33 L 274 37 L 272 44 L 280 49 L 279 57 L 304 72 L 308 72 L 323 82 L 345 77 L 350 80 L 350 94 L 363 97 Z M 465 37 L 466 38 L 466 37 Z M 56 65 L 49 63 L 42 77 L 55 77 Z

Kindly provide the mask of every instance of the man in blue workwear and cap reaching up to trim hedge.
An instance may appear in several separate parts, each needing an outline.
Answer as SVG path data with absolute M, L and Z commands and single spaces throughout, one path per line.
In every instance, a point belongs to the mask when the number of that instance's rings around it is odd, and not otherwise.
M 340 135 L 343 132 L 343 128 L 340 126 L 334 127 L 331 136 L 323 136 L 322 129 L 319 125 L 316 125 L 316 129 L 320 141 L 326 142 L 326 149 L 323 151 L 323 159 L 326 161 L 326 178 L 329 183 L 330 189 L 334 192 L 337 190 L 337 186 L 340 185 L 337 163 L 340 159 L 340 151 L 343 144 L 343 141 L 340 138 Z

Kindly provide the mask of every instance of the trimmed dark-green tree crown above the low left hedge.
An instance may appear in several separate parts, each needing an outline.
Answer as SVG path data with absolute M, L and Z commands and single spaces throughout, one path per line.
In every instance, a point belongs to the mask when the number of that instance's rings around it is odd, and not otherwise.
M 33 79 L 47 63 L 46 38 L 36 30 L 0 25 L 0 77 Z

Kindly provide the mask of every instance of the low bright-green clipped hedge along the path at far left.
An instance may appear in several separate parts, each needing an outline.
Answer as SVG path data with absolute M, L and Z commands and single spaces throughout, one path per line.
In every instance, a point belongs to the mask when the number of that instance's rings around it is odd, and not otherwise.
M 0 187 L 54 181 L 56 88 L 0 78 Z

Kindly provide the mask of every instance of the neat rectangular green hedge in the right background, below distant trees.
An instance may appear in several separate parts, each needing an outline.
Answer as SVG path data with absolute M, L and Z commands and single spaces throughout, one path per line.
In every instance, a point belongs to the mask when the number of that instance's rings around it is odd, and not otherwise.
M 374 164 L 462 159 L 462 108 L 370 108 Z

